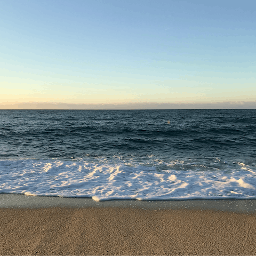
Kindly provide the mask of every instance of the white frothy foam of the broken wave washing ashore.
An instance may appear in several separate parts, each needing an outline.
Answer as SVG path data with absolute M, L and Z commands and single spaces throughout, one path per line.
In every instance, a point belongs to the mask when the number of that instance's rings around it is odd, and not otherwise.
M 223 164 L 225 163 L 225 164 Z M 216 165 L 218 168 L 216 167 Z M 110 199 L 256 198 L 256 167 L 244 163 L 115 158 L 0 161 L 0 193 Z

